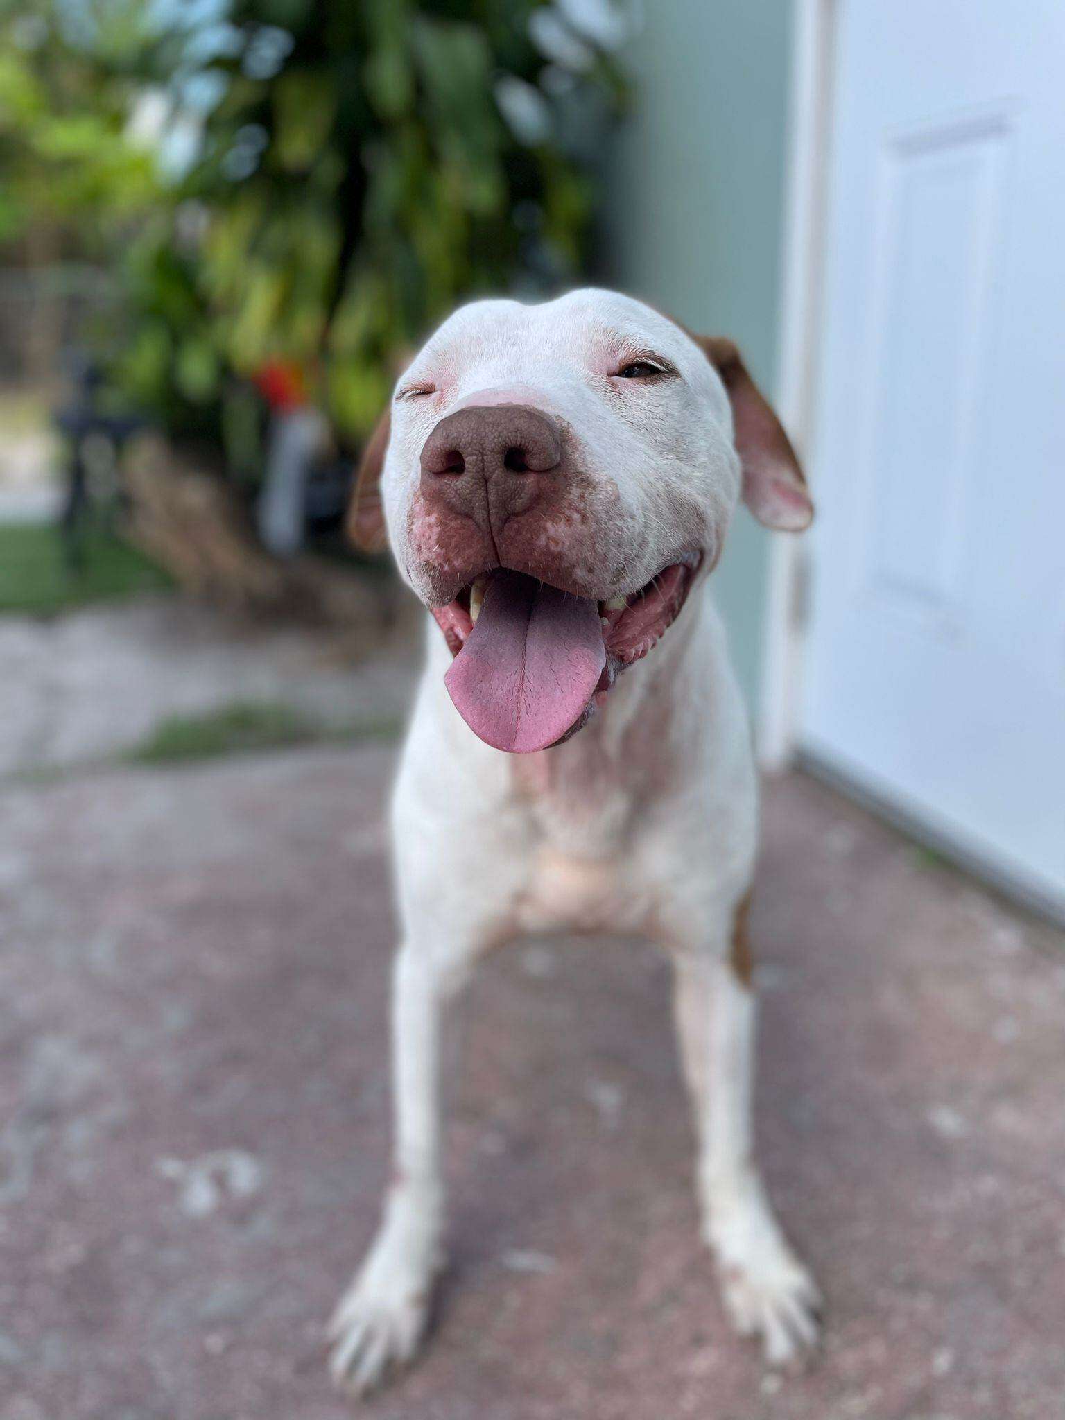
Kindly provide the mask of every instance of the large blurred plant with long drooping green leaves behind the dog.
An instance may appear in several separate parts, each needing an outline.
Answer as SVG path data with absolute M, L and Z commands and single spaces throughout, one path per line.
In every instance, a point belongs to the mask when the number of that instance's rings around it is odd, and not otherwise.
M 197 136 L 126 266 L 135 402 L 240 463 L 248 382 L 281 368 L 358 444 L 459 300 L 572 280 L 623 101 L 595 10 L 233 0 L 168 91 Z

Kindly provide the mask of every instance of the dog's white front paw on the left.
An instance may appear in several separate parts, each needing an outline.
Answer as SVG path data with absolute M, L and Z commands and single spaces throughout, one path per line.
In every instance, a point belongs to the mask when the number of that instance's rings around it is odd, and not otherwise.
M 413 1360 L 429 1321 L 435 1267 L 386 1228 L 341 1298 L 328 1328 L 329 1373 L 366 1396 Z

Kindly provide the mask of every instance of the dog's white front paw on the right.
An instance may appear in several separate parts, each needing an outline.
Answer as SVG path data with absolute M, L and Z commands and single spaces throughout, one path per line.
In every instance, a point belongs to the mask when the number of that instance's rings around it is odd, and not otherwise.
M 730 1210 L 710 1244 L 733 1326 L 758 1338 L 770 1366 L 812 1352 L 821 1335 L 821 1292 L 760 1200 Z

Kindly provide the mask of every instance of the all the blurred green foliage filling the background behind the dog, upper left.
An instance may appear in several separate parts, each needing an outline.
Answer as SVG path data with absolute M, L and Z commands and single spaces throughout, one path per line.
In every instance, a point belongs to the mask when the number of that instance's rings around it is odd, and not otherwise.
M 9 3 L 0 222 L 128 224 L 112 378 L 172 435 L 254 469 L 251 382 L 284 366 L 358 444 L 457 301 L 579 274 L 615 3 Z

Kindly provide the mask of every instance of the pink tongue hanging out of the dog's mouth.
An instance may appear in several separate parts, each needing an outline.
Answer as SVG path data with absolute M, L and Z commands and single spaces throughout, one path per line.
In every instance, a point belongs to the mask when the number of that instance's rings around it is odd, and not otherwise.
M 596 602 L 500 571 L 444 684 L 486 744 L 528 754 L 579 720 L 605 665 Z

